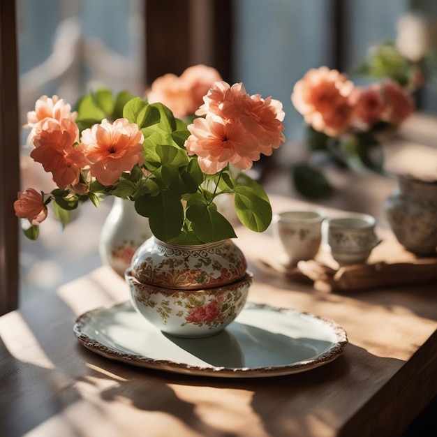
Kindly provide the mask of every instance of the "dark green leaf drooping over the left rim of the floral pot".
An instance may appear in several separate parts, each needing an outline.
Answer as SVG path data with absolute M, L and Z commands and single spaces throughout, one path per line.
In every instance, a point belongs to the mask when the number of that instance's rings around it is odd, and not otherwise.
M 169 191 L 161 191 L 158 195 L 143 195 L 135 201 L 138 214 L 149 217 L 149 225 L 153 235 L 168 242 L 177 237 L 184 223 L 184 208 L 181 200 Z

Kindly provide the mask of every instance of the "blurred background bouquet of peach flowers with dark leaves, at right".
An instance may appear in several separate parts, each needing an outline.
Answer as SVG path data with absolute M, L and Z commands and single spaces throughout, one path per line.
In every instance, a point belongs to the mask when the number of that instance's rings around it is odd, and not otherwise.
M 296 82 L 291 101 L 304 117 L 310 154 L 325 152 L 355 172 L 384 173 L 382 141 L 413 114 L 415 95 L 437 77 L 437 50 L 424 20 L 406 15 L 398 29 L 396 41 L 371 46 L 353 72 L 364 77 L 364 86 L 326 66 L 311 68 Z M 332 192 L 323 172 L 309 162 L 295 166 L 292 180 L 307 198 Z

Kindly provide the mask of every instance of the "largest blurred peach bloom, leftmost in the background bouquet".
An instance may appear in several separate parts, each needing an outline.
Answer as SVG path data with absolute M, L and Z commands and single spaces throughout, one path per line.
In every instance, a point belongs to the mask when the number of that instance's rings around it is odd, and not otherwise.
M 339 135 L 353 117 L 353 82 L 323 66 L 312 68 L 293 87 L 291 101 L 306 123 L 327 135 Z

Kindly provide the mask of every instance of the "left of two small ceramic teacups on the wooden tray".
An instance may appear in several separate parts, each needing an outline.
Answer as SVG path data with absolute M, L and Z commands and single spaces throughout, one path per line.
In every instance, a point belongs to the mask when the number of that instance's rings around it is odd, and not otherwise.
M 281 258 L 283 264 L 294 266 L 316 256 L 325 218 L 325 213 L 318 209 L 285 211 L 273 216 L 274 236 L 286 255 Z

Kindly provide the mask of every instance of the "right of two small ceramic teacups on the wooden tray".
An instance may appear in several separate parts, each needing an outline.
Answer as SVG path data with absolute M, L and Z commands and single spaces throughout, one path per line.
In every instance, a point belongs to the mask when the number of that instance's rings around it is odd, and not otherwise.
M 376 220 L 369 214 L 350 214 L 327 219 L 327 242 L 339 265 L 365 262 L 379 243 Z

